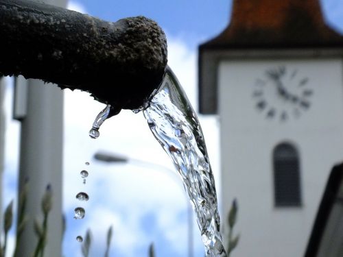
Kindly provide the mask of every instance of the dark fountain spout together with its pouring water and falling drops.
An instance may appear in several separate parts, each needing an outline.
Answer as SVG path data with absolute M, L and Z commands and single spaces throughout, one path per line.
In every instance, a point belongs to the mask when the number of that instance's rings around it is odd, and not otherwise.
M 93 138 L 99 136 L 102 123 L 121 109 L 142 111 L 180 174 L 196 212 L 206 256 L 226 256 L 204 136 L 167 66 L 162 29 L 141 16 L 108 23 L 25 0 L 0 0 L 0 5 L 0 75 L 21 74 L 60 88 L 85 90 L 106 103 L 91 128 Z M 20 38 L 18 32 L 23 32 Z M 115 86 L 109 83 L 113 77 Z M 76 208 L 75 219 L 83 216 L 84 210 Z

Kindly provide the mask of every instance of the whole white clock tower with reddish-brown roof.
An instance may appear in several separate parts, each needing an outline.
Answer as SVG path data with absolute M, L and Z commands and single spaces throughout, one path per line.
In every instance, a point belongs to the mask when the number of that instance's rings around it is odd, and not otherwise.
M 228 27 L 199 47 L 199 99 L 220 119 L 223 223 L 239 205 L 233 254 L 303 256 L 343 161 L 343 37 L 319 1 L 233 0 Z

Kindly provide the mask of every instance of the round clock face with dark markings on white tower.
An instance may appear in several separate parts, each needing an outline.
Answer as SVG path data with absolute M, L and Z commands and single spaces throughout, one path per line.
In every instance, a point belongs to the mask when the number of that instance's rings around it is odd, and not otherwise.
M 266 119 L 298 119 L 311 107 L 314 90 L 309 77 L 291 66 L 265 69 L 255 80 L 252 97 L 255 108 Z

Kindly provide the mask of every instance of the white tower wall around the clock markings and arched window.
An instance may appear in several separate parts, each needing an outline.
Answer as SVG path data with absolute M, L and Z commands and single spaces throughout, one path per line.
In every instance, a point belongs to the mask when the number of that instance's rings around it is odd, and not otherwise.
M 252 97 L 256 79 L 282 65 L 309 77 L 307 86 L 314 90 L 311 108 L 285 122 L 266 119 Z M 233 197 L 239 205 L 235 232 L 241 238 L 233 256 L 303 256 L 329 171 L 343 160 L 342 60 L 223 61 L 218 76 L 222 219 Z M 291 113 L 292 105 L 277 96 L 276 88 L 269 88 L 265 98 Z M 300 154 L 299 208 L 274 206 L 272 149 L 284 140 Z

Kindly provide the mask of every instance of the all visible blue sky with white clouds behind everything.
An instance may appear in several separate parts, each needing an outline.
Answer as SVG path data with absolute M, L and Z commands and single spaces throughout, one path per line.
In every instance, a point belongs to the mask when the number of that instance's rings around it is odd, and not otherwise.
M 226 27 L 231 8 L 229 0 L 78 0 L 73 1 L 71 6 L 108 21 L 137 15 L 157 21 L 167 33 L 169 65 L 197 109 L 197 47 Z M 342 1 L 326 0 L 322 1 L 322 6 L 329 23 L 343 32 Z M 142 115 L 123 111 L 102 125 L 101 136 L 97 140 L 91 140 L 88 130 L 104 106 L 85 93 L 66 91 L 64 95 L 63 201 L 67 217 L 64 256 L 81 256 L 80 243 L 75 241 L 75 237 L 84 234 L 88 228 L 91 228 L 94 237 L 91 256 L 102 256 L 109 225 L 114 228 L 110 256 L 147 256 L 147 247 L 151 242 L 155 244 L 157 257 L 187 256 L 187 205 L 182 185 L 175 180 L 175 174 L 134 164 L 103 164 L 92 158 L 96 151 L 106 150 L 173 169 Z M 4 205 L 16 197 L 18 169 L 19 124 L 10 120 L 11 106 L 12 87 L 9 83 L 6 92 L 6 141 L 10 143 L 6 144 L 5 149 L 8 154 L 3 181 Z M 217 179 L 220 170 L 219 121 L 216 117 L 200 117 L 200 122 Z M 85 169 L 86 160 L 91 165 L 84 186 L 80 171 Z M 217 190 L 220 190 L 218 183 Z M 73 209 L 79 204 L 75 200 L 75 194 L 79 191 L 86 191 L 90 201 L 85 204 L 85 219 L 75 221 Z M 196 223 L 193 227 L 194 256 L 203 256 Z

